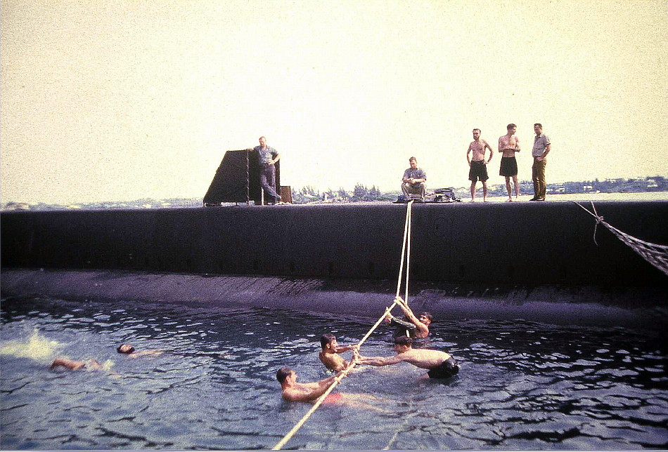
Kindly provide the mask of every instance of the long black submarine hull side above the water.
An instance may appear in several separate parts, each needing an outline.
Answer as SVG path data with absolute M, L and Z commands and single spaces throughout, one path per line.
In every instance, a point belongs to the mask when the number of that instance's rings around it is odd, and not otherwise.
M 596 208 L 619 230 L 668 244 L 668 202 Z M 3 213 L 2 290 L 375 316 L 392 302 L 405 215 L 399 204 Z M 597 246 L 596 221 L 572 203 L 417 204 L 412 216 L 419 308 L 665 324 L 668 277 L 600 225 Z

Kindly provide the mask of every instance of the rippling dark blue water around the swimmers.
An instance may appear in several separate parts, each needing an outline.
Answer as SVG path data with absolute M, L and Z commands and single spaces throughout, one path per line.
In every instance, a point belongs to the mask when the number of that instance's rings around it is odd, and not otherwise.
M 352 344 L 375 321 L 34 298 L 1 300 L 0 320 L 0 448 L 30 450 L 270 449 L 311 407 L 281 399 L 276 370 L 326 378 L 320 335 Z M 380 326 L 362 354 L 392 354 L 391 335 Z M 163 353 L 128 359 L 120 343 Z M 436 319 L 428 347 L 461 372 L 438 381 L 409 364 L 358 366 L 334 392 L 364 406 L 321 406 L 285 448 L 668 447 L 663 334 Z M 55 357 L 103 370 L 51 371 Z

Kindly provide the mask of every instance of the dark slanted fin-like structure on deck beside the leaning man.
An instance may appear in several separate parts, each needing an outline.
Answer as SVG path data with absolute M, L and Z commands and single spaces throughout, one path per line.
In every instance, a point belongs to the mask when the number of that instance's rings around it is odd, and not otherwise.
M 203 202 L 205 206 L 217 206 L 222 202 L 255 201 L 255 204 L 260 204 L 261 189 L 257 152 L 246 149 L 227 151 L 209 185 L 207 194 L 204 195 Z M 276 163 L 276 191 L 281 191 L 280 161 Z

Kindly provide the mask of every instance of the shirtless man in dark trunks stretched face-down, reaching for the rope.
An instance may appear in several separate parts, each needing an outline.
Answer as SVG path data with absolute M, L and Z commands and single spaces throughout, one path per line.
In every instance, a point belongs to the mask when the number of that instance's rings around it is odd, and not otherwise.
M 459 372 L 459 364 L 449 353 L 440 350 L 414 349 L 413 340 L 407 336 L 399 336 L 394 340 L 393 357 L 361 357 L 356 356 L 359 364 L 368 366 L 390 366 L 402 362 L 413 364 L 419 368 L 428 369 L 429 378 L 450 378 Z M 424 375 L 423 375 L 424 376 Z

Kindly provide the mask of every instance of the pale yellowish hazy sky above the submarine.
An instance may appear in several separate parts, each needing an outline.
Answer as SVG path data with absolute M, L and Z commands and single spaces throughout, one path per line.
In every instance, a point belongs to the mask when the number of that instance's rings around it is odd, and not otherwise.
M 283 185 L 463 187 L 509 122 L 522 180 L 534 122 L 548 182 L 668 176 L 667 1 L 0 1 L 3 202 L 203 197 L 260 135 Z

